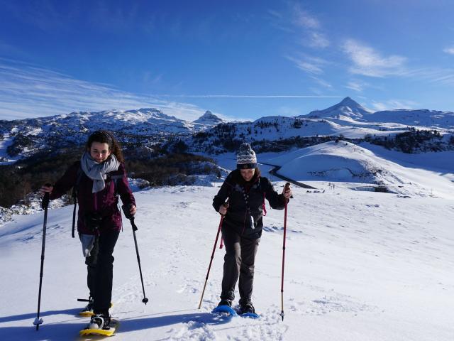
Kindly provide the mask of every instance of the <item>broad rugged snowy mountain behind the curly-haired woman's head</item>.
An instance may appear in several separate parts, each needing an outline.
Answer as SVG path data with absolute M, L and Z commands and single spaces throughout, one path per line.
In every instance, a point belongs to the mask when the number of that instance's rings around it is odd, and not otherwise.
M 0 121 L 0 147 L 3 147 L 0 148 L 0 162 L 13 160 L 11 156 L 31 156 L 55 146 L 83 144 L 87 134 L 98 129 L 114 131 L 123 145 L 149 147 L 211 126 L 213 124 L 208 122 L 200 124 L 177 119 L 153 108 L 72 112 L 52 117 Z

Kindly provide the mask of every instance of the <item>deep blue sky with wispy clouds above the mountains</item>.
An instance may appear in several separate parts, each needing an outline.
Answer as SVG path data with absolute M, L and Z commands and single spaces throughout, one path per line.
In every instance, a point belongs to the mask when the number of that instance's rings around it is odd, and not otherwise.
M 454 111 L 454 1 L 0 0 L 0 119 Z

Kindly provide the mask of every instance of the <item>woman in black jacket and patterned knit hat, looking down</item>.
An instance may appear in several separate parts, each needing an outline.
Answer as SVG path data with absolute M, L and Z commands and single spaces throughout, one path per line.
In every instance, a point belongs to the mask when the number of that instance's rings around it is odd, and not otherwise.
M 290 200 L 292 190 L 284 188 L 282 194 L 278 194 L 270 180 L 260 176 L 255 152 L 249 144 L 242 144 L 236 156 L 237 169 L 227 176 L 213 199 L 214 209 L 224 216 L 222 237 L 226 245 L 219 305 L 232 305 L 239 278 L 239 313 L 255 313 L 251 296 L 265 198 L 272 208 L 282 210 L 285 200 Z

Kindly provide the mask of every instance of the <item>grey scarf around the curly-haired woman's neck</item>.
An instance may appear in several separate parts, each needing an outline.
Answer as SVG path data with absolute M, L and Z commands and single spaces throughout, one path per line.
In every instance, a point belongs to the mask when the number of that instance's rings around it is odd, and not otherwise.
M 88 152 L 85 152 L 82 158 L 80 158 L 80 166 L 85 175 L 93 180 L 92 193 L 96 193 L 104 190 L 106 187 L 106 183 L 104 182 L 106 180 L 106 173 L 117 171 L 120 163 L 114 154 L 111 154 L 103 163 L 97 163 Z

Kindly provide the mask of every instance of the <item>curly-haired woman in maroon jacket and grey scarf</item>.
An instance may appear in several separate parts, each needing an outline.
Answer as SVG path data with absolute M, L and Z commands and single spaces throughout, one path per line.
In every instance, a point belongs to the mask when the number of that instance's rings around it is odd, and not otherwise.
M 50 200 L 74 188 L 79 202 L 77 232 L 87 264 L 89 304 L 81 315 L 92 315 L 90 328 L 109 330 L 114 247 L 121 230 L 118 195 L 135 214 L 135 199 L 128 185 L 121 146 L 109 131 L 91 134 L 80 161 L 75 162 L 55 185 L 41 193 Z

